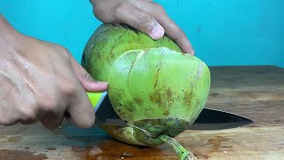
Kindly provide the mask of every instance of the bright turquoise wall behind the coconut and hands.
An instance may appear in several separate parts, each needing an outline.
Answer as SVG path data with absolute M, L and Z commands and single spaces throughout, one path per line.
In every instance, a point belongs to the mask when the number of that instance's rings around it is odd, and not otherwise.
M 209 66 L 284 68 L 283 0 L 156 0 Z M 1 0 L 0 13 L 20 32 L 67 47 L 81 61 L 101 22 L 89 0 Z

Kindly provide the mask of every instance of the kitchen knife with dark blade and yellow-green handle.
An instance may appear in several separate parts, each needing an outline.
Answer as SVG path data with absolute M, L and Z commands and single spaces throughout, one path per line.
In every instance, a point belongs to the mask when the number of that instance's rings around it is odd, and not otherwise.
M 129 126 L 116 114 L 108 98 L 107 92 L 87 92 L 91 104 L 96 112 L 99 125 Z M 253 123 L 244 116 L 213 109 L 203 108 L 200 116 L 193 124 L 186 127 L 187 130 L 222 130 L 241 127 Z

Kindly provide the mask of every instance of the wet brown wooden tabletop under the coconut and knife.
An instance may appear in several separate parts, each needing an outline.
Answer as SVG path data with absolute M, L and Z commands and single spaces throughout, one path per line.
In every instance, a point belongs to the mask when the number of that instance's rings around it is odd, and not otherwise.
M 284 159 L 284 69 L 214 67 L 208 108 L 247 116 L 254 124 L 220 131 L 185 131 L 177 140 L 199 159 Z M 136 147 L 98 128 L 64 123 L 0 126 L 0 159 L 177 159 L 167 145 Z

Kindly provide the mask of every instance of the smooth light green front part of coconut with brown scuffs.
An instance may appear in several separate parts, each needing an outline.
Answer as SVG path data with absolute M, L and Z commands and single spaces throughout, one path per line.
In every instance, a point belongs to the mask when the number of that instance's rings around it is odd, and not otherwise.
M 176 137 L 185 131 L 209 94 L 207 66 L 194 56 L 164 47 L 124 52 L 109 75 L 109 97 L 116 113 L 155 135 Z M 135 128 L 132 136 L 135 144 L 162 144 Z

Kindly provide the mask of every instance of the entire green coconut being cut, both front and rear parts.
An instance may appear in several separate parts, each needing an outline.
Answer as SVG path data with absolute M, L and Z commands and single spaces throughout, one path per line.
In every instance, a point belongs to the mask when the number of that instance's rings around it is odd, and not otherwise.
M 82 65 L 94 79 L 108 82 L 109 99 L 122 120 L 155 135 L 184 132 L 209 95 L 210 72 L 203 61 L 181 52 L 167 36 L 155 41 L 124 25 L 100 26 L 85 46 Z M 131 126 L 100 127 L 125 143 L 163 143 Z

